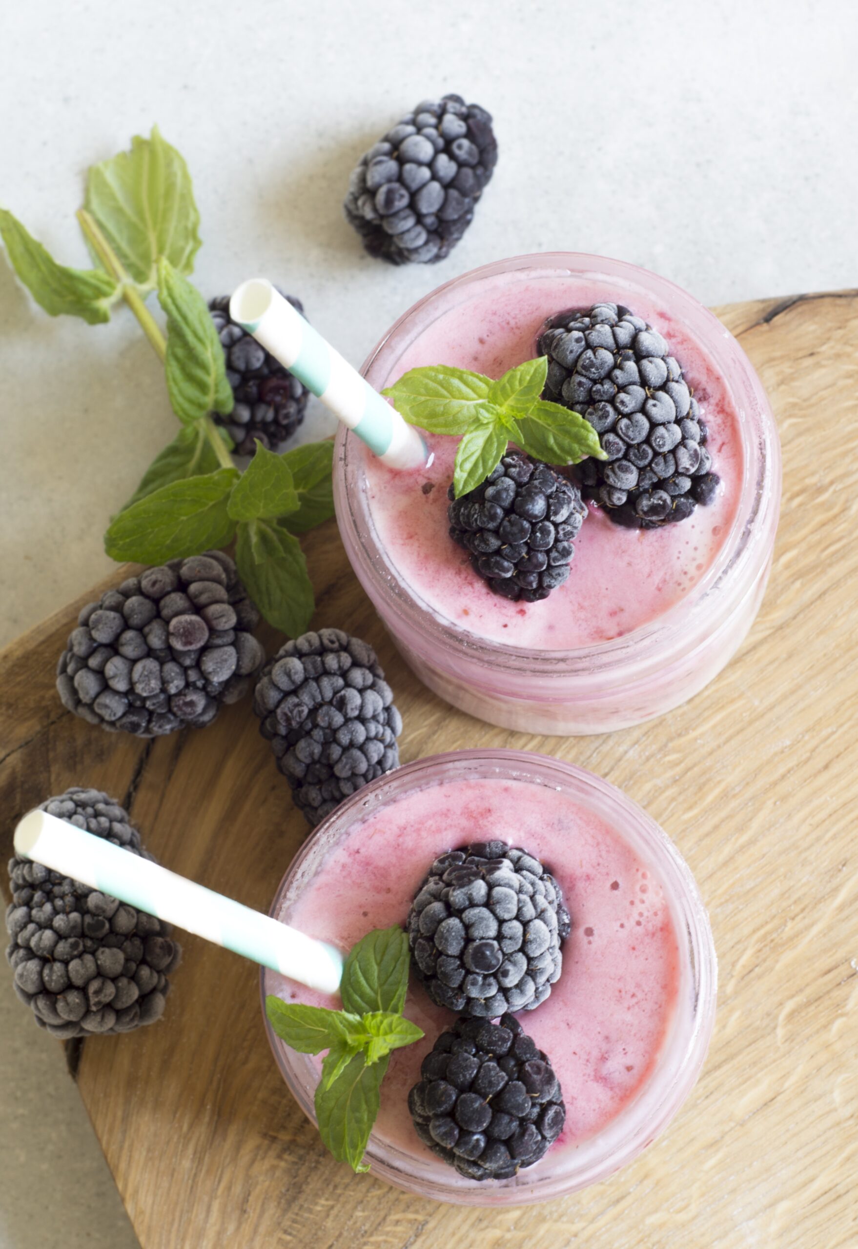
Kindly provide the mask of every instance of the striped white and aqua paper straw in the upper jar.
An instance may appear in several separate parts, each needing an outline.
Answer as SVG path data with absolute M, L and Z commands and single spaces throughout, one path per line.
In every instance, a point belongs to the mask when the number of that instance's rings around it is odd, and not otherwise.
M 251 279 L 230 300 L 230 316 L 391 468 L 420 468 L 422 437 L 366 382 L 338 351 L 296 312 L 271 282 Z

